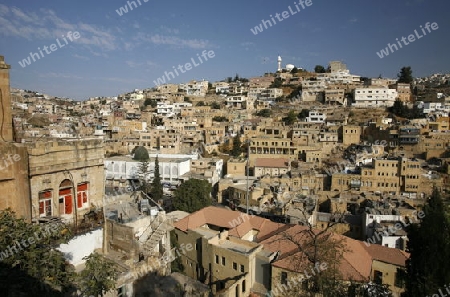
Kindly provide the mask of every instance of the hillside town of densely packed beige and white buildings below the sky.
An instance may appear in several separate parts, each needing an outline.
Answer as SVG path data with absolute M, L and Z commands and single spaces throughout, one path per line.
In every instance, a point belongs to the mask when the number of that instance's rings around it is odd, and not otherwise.
M 404 296 L 411 226 L 448 209 L 450 74 L 276 61 L 76 101 L 0 56 L 0 211 L 70 230 L 75 273 L 111 264 L 101 296 Z

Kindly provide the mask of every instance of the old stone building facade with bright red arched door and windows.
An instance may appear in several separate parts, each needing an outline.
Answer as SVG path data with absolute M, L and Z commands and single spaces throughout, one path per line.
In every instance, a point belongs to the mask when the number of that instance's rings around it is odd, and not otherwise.
M 103 206 L 101 140 L 27 144 L 32 218 L 55 216 L 77 225 Z

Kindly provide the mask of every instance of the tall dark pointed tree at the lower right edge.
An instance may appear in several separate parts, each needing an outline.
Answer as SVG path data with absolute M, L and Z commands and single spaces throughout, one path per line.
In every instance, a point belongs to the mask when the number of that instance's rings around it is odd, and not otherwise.
M 421 222 L 406 229 L 410 258 L 404 296 L 431 296 L 450 283 L 450 221 L 444 209 L 435 188 L 423 212 L 418 213 Z

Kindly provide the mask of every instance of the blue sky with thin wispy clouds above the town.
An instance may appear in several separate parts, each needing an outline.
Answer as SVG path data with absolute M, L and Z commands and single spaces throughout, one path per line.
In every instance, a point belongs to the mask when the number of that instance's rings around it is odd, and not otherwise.
M 137 0 L 135 0 L 137 3 Z M 140 0 L 122 16 L 122 0 L 3 0 L 0 55 L 12 66 L 11 86 L 84 100 L 116 96 L 153 81 L 202 51 L 215 57 L 179 73 L 173 83 L 258 76 L 283 64 L 308 70 L 341 60 L 361 76 L 395 77 L 402 66 L 414 76 L 449 72 L 450 1 L 312 0 L 282 22 L 254 35 L 269 15 L 294 8 L 294 0 Z M 377 52 L 426 22 L 439 29 L 380 59 Z M 62 35 L 80 38 L 21 67 L 19 61 Z M 423 35 L 423 34 L 422 34 Z M 32 60 L 30 60 L 32 61 Z M 198 60 L 197 60 L 198 61 Z

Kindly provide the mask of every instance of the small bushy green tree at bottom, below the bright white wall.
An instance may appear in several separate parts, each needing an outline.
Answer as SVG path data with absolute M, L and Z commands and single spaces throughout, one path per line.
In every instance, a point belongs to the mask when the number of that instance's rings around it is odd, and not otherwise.
M 115 288 L 118 272 L 113 262 L 97 253 L 83 260 L 86 260 L 86 268 L 78 276 L 82 296 L 103 296 Z

